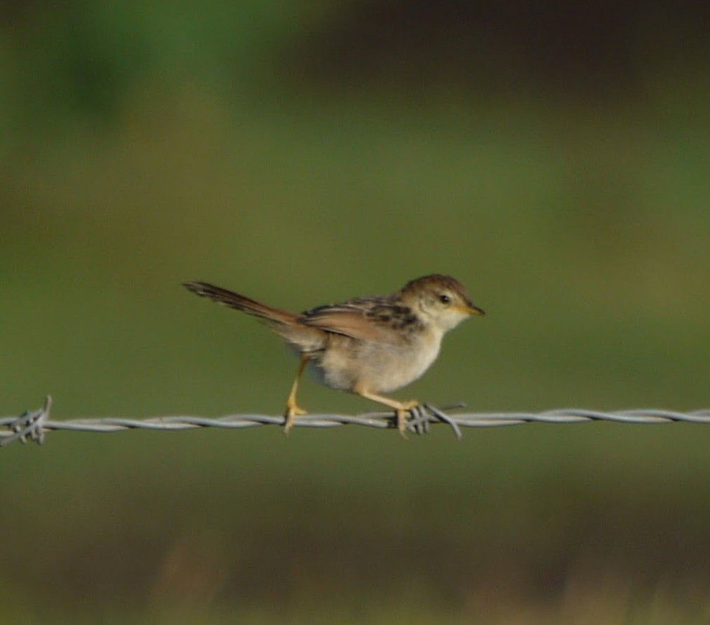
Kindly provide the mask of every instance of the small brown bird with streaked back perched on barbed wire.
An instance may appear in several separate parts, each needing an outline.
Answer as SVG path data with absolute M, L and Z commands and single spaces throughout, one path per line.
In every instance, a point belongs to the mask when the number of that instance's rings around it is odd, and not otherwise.
M 259 317 L 300 354 L 284 412 L 285 432 L 295 415 L 298 382 L 308 365 L 325 386 L 394 408 L 400 434 L 416 400 L 383 396 L 419 378 L 439 355 L 442 337 L 469 315 L 484 315 L 450 276 L 424 276 L 392 295 L 327 304 L 296 315 L 205 282 L 187 282 L 197 295 Z

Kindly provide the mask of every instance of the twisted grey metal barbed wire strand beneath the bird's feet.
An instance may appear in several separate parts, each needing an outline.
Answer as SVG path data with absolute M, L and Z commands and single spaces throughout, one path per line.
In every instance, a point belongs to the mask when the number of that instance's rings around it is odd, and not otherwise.
M 0 417 L 0 447 L 11 442 L 38 442 L 45 440 L 49 430 L 72 430 L 80 432 L 119 432 L 143 428 L 147 430 L 187 430 L 192 428 L 250 428 L 256 425 L 283 425 L 283 416 L 270 415 L 225 415 L 218 418 L 200 416 L 165 416 L 145 419 L 121 417 L 82 418 L 66 421 L 49 419 L 52 398 L 47 396 L 44 406 L 35 411 L 26 411 L 19 417 Z M 448 415 L 444 411 L 464 408 L 457 403 L 435 408 L 424 403 L 413 408 L 408 420 L 408 430 L 425 434 L 430 425 L 445 423 L 461 438 L 460 428 L 486 428 L 521 423 L 582 423 L 584 421 L 614 421 L 616 423 L 710 423 L 710 408 L 691 412 L 635 408 L 633 410 L 602 412 L 583 408 L 558 408 L 538 413 L 464 413 Z M 370 428 L 396 428 L 393 413 L 363 413 L 360 415 L 302 415 L 295 420 L 295 427 L 332 428 L 339 425 L 365 425 Z M 6 428 L 6 429 L 2 429 Z

